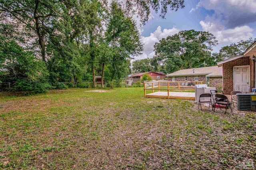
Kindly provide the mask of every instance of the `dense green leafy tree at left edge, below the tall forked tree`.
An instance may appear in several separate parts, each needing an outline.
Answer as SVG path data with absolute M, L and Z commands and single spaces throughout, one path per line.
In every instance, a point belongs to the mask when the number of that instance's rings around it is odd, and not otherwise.
M 47 81 L 46 64 L 37 59 L 31 51 L 25 51 L 14 40 L 0 35 L 0 82 L 12 82 L 9 90 L 29 91 L 30 94 L 45 92 L 50 85 Z

